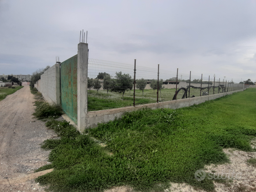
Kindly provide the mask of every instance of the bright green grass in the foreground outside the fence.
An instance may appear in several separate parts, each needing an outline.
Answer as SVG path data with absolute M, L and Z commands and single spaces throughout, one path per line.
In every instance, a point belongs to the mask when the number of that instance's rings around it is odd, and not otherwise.
M 56 192 L 103 191 L 119 185 L 163 191 L 170 182 L 212 191 L 213 180 L 197 181 L 194 173 L 205 164 L 228 162 L 223 148 L 255 151 L 250 145 L 256 136 L 255 95 L 256 89 L 249 88 L 182 109 L 126 113 L 88 134 L 51 119 L 47 126 L 61 139 L 44 141 L 51 164 L 38 171 L 54 171 L 36 182 Z

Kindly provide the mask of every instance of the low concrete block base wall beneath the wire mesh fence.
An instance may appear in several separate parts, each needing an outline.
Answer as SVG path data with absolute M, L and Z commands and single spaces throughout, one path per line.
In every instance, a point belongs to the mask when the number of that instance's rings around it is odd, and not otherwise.
M 166 101 L 166 102 L 159 102 L 159 103 L 151 103 L 151 104 L 144 104 L 138 106 L 128 106 L 128 107 L 121 107 L 117 109 L 106 109 L 101 111 L 90 111 L 87 114 L 88 119 L 88 128 L 97 127 L 98 123 L 107 123 L 111 120 L 116 118 L 121 118 L 123 113 L 137 111 L 142 108 L 150 108 L 150 109 L 161 109 L 161 108 L 169 108 L 169 109 L 178 109 L 182 107 L 191 106 L 193 104 L 200 104 L 212 99 L 217 99 L 219 97 L 223 97 L 225 95 L 230 95 L 236 92 L 240 92 L 243 90 L 236 90 L 227 93 L 219 93 L 214 95 L 205 95 L 202 97 L 192 97 L 187 99 L 179 99 L 173 101 Z

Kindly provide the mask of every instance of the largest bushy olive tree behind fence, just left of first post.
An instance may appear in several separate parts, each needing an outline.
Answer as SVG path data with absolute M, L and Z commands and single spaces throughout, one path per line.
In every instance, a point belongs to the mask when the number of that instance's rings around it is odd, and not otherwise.
M 125 93 L 126 90 L 133 89 L 133 80 L 129 74 L 122 74 L 122 72 L 116 72 L 116 80 L 113 81 L 112 91 Z

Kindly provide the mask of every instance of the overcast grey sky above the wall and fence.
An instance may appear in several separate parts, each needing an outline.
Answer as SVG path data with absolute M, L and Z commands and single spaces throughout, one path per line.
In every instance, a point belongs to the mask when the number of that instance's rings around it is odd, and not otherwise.
M 0 74 L 67 60 L 84 30 L 89 58 L 256 81 L 255 10 L 256 0 L 0 0 Z

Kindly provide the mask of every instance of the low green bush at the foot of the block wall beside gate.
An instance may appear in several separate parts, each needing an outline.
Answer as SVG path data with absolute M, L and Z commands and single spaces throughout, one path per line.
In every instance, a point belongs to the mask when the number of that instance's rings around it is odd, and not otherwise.
M 56 105 L 56 104 L 51 105 L 46 102 L 35 102 L 35 106 L 36 106 L 35 113 L 33 113 L 33 115 L 38 119 L 44 119 L 50 116 L 54 118 L 58 118 L 63 114 L 63 111 L 60 105 Z

